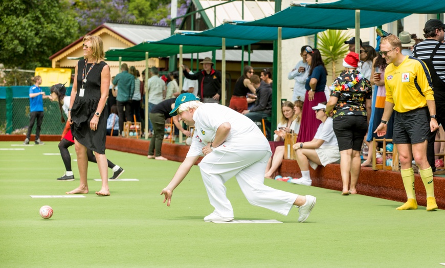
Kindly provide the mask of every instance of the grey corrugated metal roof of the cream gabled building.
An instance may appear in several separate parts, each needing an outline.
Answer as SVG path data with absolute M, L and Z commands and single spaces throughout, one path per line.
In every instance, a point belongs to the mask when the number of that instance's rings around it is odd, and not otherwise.
M 105 23 L 104 25 L 135 44 L 139 44 L 144 41 L 158 41 L 165 39 L 170 36 L 171 31 L 170 27 L 163 26 L 116 23 Z

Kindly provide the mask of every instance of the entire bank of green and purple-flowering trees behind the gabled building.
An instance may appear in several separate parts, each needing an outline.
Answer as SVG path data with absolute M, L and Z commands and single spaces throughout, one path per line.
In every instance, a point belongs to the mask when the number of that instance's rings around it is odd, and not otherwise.
M 179 0 L 179 16 L 190 3 Z M 107 21 L 169 24 L 170 0 L 0 1 L 0 63 L 7 69 L 51 66 L 51 55 Z

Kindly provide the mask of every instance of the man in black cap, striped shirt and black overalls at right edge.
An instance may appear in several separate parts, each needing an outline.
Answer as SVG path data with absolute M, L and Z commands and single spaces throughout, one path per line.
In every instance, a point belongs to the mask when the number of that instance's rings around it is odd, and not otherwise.
M 442 43 L 445 38 L 445 24 L 439 19 L 430 19 L 425 24 L 424 41 L 416 44 L 413 49 L 413 56 L 421 59 L 428 66 L 431 80 L 433 82 L 434 100 L 436 103 L 437 123 L 442 126 L 445 124 L 445 44 Z M 434 58 L 434 61 L 433 61 Z M 436 131 L 430 133 L 428 140 L 427 158 L 433 172 L 434 166 L 434 140 Z

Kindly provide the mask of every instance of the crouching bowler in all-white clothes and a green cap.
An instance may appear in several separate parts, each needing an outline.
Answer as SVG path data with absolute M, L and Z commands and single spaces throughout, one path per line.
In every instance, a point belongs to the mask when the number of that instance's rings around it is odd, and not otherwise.
M 206 222 L 233 220 L 233 208 L 226 196 L 224 184 L 233 176 L 255 206 L 287 215 L 299 207 L 299 222 L 314 208 L 316 198 L 273 189 L 264 185 L 264 172 L 272 155 L 269 142 L 252 120 L 224 105 L 202 103 L 191 93 L 177 97 L 171 116 L 194 126 L 192 144 L 184 162 L 161 192 L 170 206 L 173 190 L 184 180 L 198 158 L 205 155 L 199 169 L 210 204 L 215 210 L 204 218 Z

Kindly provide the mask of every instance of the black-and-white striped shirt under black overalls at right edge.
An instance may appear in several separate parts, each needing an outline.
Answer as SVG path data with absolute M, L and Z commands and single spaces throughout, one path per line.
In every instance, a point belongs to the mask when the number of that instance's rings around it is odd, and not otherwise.
M 416 44 L 413 50 L 414 57 L 421 59 L 422 61 L 428 61 L 438 42 L 439 41 L 435 39 L 425 39 L 424 41 Z M 441 44 L 433 57 L 432 63 L 437 75 L 443 82 L 445 82 L 445 44 Z M 432 71 L 433 70 L 430 70 L 430 72 L 433 74 Z

